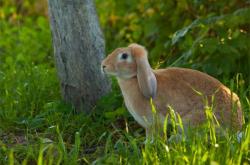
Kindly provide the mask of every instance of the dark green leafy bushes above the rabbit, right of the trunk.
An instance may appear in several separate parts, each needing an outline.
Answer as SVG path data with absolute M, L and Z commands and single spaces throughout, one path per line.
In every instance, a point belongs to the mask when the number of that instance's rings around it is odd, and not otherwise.
M 138 42 L 155 68 L 189 67 L 217 78 L 242 73 L 250 83 L 249 2 L 96 1 L 108 52 Z

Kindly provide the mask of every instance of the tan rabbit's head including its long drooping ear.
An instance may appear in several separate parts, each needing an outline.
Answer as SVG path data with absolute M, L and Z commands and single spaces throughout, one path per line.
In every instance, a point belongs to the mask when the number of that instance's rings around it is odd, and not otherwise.
M 138 44 L 117 48 L 102 61 L 104 73 L 120 79 L 137 77 L 142 94 L 154 98 L 157 82 L 150 67 L 146 49 Z

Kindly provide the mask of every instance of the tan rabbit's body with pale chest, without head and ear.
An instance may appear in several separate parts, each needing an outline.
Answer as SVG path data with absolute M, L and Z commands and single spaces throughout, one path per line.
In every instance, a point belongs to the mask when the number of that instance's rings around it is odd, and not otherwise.
M 220 124 L 230 125 L 237 130 L 241 128 L 239 98 L 218 80 L 205 73 L 185 68 L 159 69 L 154 70 L 154 74 L 158 90 L 153 103 L 162 122 L 168 112 L 168 106 L 171 106 L 182 117 L 184 124 L 202 124 L 206 119 L 205 102 L 208 101 L 208 106 L 213 104 L 213 112 Z M 151 105 L 141 94 L 136 82 L 136 77 L 129 80 L 118 79 L 129 112 L 141 126 L 148 128 L 152 123 Z

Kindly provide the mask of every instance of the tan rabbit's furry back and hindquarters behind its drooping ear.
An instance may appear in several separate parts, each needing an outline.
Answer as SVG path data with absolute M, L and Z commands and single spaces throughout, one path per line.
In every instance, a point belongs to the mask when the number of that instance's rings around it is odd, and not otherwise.
M 185 68 L 159 69 L 154 73 L 158 85 L 154 101 L 164 116 L 167 107 L 171 106 L 184 122 L 196 125 L 205 120 L 204 109 L 208 105 L 213 107 L 215 116 L 222 125 L 241 128 L 239 98 L 215 78 Z

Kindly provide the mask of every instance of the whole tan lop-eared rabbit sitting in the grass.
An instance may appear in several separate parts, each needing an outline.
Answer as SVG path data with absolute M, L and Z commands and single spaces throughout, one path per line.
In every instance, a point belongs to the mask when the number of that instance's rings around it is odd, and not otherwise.
M 147 137 L 151 135 L 153 123 L 150 98 L 161 118 L 161 125 L 169 106 L 180 115 L 184 125 L 204 123 L 204 98 L 207 98 L 223 127 L 236 131 L 242 127 L 241 104 L 235 93 L 217 79 L 197 70 L 178 67 L 153 70 L 147 50 L 139 44 L 115 49 L 102 61 L 101 68 L 105 74 L 117 78 L 128 111 L 146 129 Z

